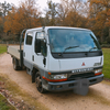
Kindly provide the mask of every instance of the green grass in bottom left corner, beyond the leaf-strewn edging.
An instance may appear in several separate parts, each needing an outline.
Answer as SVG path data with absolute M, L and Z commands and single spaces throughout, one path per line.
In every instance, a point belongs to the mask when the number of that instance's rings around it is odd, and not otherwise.
M 0 110 L 15 110 L 15 108 L 12 107 L 2 95 L 0 95 Z

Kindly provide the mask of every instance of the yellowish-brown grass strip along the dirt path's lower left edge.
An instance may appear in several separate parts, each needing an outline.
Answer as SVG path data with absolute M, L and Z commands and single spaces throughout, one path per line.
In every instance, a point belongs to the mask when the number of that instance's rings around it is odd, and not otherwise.
M 6 82 L 6 89 L 10 91 L 13 100 L 23 100 L 24 107 L 26 109 L 20 108 L 20 110 L 48 110 L 44 105 L 40 103 L 36 98 L 22 90 L 22 88 L 12 81 L 7 75 L 1 74 L 0 80 Z

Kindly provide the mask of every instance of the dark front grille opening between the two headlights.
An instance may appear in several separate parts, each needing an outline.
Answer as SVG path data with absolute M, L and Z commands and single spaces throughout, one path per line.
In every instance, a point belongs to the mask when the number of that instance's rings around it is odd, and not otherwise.
M 84 74 L 77 74 L 77 75 L 72 75 L 68 80 L 75 80 L 75 79 L 80 79 L 80 78 L 89 78 L 94 77 L 95 73 L 84 73 Z

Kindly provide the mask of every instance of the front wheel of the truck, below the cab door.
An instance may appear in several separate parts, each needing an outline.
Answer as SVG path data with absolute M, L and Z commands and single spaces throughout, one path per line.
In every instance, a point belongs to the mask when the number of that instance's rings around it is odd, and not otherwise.
M 37 72 L 35 75 L 35 82 L 36 82 L 36 89 L 41 92 L 44 94 L 46 92 L 46 90 L 43 88 L 42 86 L 42 77 L 40 75 L 40 73 Z

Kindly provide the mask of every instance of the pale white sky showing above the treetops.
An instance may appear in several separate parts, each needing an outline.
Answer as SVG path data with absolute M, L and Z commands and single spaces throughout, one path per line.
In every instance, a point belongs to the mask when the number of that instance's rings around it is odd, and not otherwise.
M 4 1 L 7 1 L 9 3 L 13 3 L 15 7 L 18 7 L 20 1 L 23 1 L 23 0 L 0 0 L 1 3 L 3 3 Z M 47 0 L 35 0 L 35 1 L 38 4 L 38 8 L 41 11 L 43 11 L 45 8 L 47 8 Z M 61 0 L 52 0 L 52 1 L 59 2 Z

